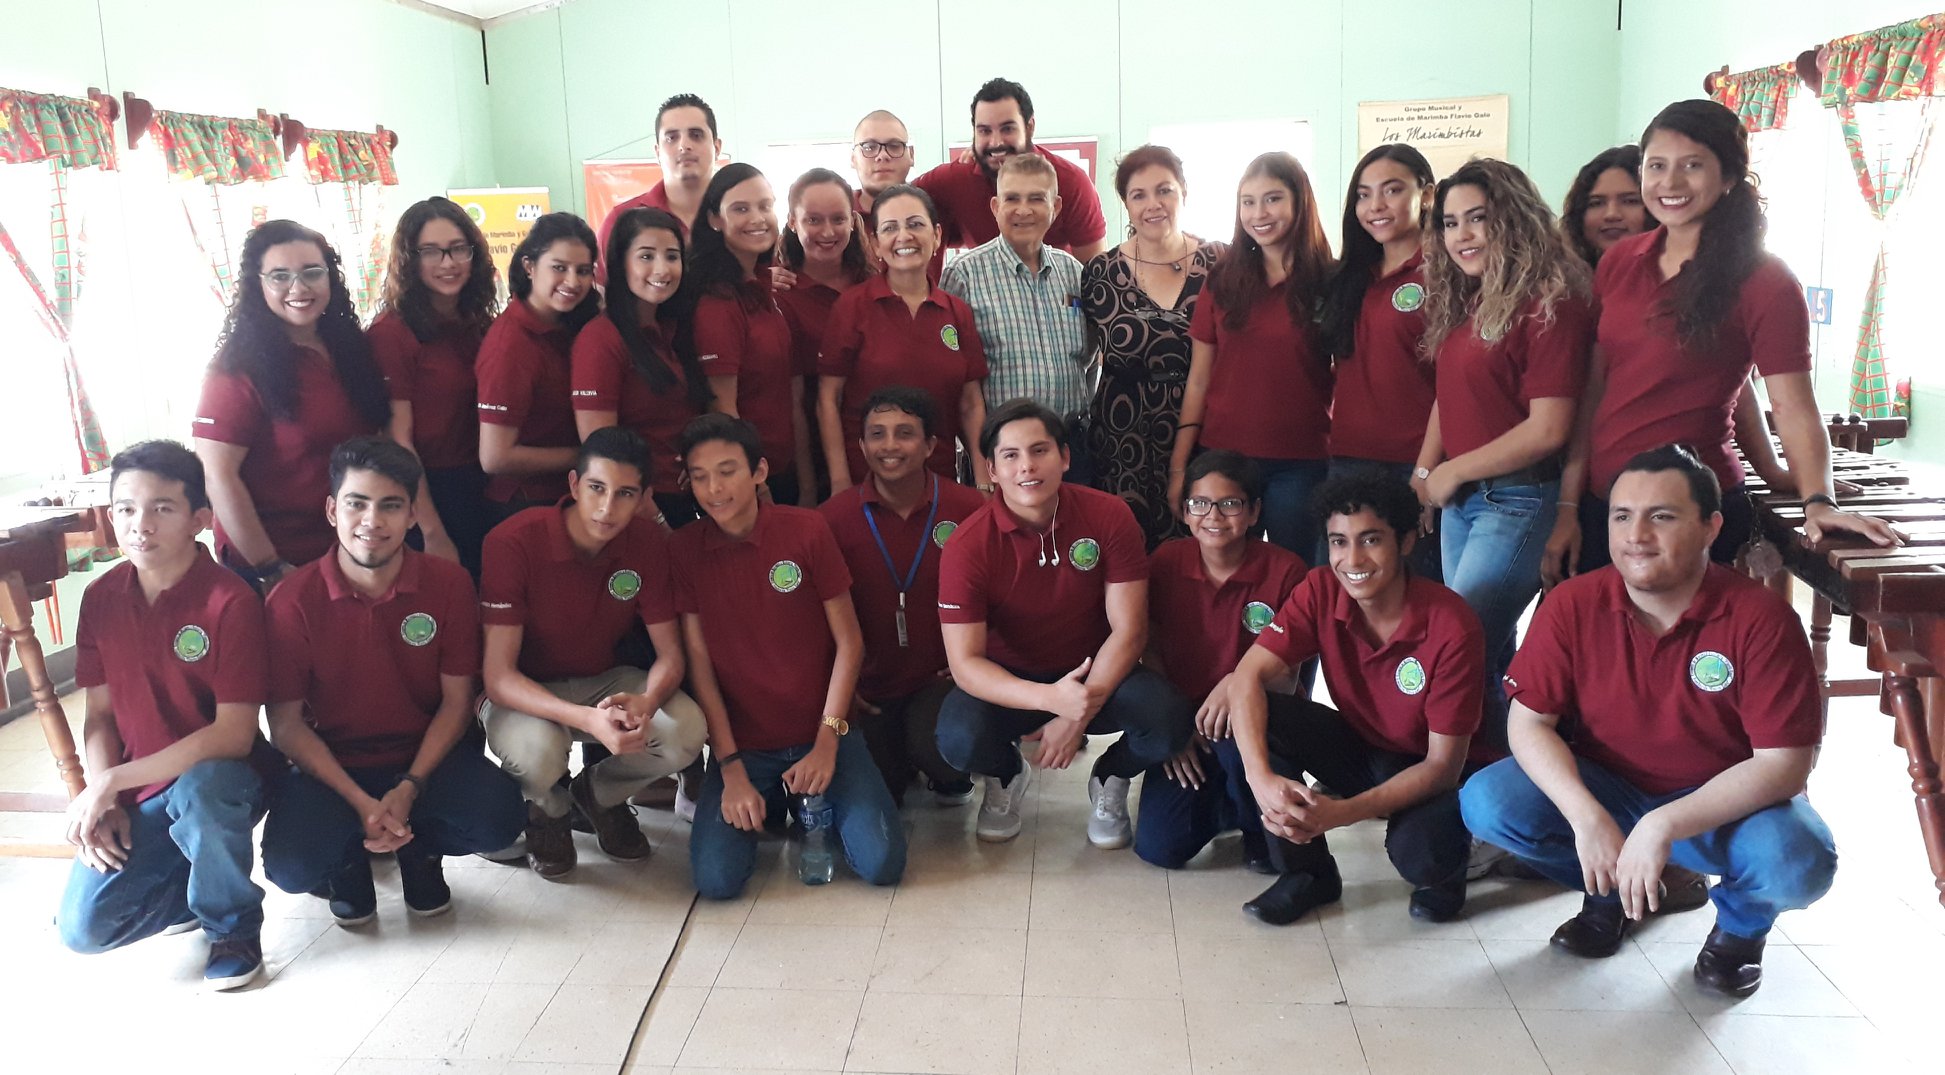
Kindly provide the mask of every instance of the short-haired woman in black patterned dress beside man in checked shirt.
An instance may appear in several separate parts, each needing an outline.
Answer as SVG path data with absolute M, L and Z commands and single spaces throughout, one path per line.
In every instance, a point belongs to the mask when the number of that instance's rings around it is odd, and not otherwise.
M 1081 268 L 1081 309 L 1101 340 L 1087 451 L 1095 488 L 1120 496 L 1148 548 L 1183 533 L 1169 503 L 1169 455 L 1194 350 L 1188 323 L 1221 243 L 1183 231 L 1188 185 L 1167 146 L 1140 146 L 1114 167 L 1128 239 Z

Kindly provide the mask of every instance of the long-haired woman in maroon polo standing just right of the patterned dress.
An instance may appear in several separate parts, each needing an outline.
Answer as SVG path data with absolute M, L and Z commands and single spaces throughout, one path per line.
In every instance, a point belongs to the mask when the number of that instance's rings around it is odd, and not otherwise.
M 1317 311 L 1330 243 L 1311 177 L 1290 154 L 1249 161 L 1235 192 L 1235 237 L 1210 270 L 1188 323 L 1194 350 L 1169 459 L 1169 505 L 1196 447 L 1223 447 L 1262 472 L 1262 527 L 1311 560 L 1323 527 L 1311 490 L 1330 441 L 1330 352 Z

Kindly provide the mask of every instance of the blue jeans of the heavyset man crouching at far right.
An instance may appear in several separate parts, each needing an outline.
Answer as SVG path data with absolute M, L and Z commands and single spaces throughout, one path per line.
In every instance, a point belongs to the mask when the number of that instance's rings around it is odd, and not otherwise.
M 1647 811 L 1694 791 L 1684 787 L 1649 795 L 1585 758 L 1577 762 L 1581 783 L 1614 815 L 1622 832 L 1632 832 Z M 1480 840 L 1527 859 L 1568 888 L 1581 888 L 1574 828 L 1517 760 L 1503 758 L 1474 774 L 1459 789 L 1459 809 L 1467 828 Z M 1715 904 L 1715 925 L 1737 937 L 1762 937 L 1776 925 L 1776 916 L 1807 908 L 1830 890 L 1836 844 L 1809 799 L 1797 795 L 1743 820 L 1677 840 L 1669 848 L 1669 861 L 1721 877 L 1708 894 Z

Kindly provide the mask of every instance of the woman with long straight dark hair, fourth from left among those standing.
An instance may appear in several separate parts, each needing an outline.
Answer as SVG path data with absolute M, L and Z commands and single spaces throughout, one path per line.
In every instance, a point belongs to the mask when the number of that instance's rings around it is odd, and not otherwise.
M 698 509 L 675 441 L 714 402 L 694 350 L 675 346 L 690 303 L 683 224 L 669 210 L 632 208 L 605 239 L 607 309 L 574 338 L 574 424 L 584 441 L 617 424 L 642 433 L 657 515 L 679 529 Z

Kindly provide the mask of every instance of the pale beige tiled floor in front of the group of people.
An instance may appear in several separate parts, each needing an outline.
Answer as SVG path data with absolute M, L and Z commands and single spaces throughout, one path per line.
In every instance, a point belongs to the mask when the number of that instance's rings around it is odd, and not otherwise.
M 47 783 L 37 729 L 0 729 L 0 787 Z M 1556 954 L 1577 896 L 1484 883 L 1420 925 L 1377 826 L 1332 838 L 1342 904 L 1288 929 L 1237 910 L 1262 879 L 1233 840 L 1165 873 L 1083 834 L 1083 772 L 1043 774 L 1025 832 L 982 846 L 974 809 L 908 809 L 897 890 L 803 888 L 766 844 L 751 892 L 690 912 L 687 826 L 644 813 L 655 857 L 574 884 L 457 861 L 457 912 L 375 931 L 274 894 L 274 980 L 196 989 L 202 947 L 58 949 L 66 863 L 0 859 L 0 1067 L 294 1073 L 1249 1073 L 1920 1071 L 1933 1056 L 1945 910 L 1933 902 L 1889 721 L 1838 702 L 1813 795 L 1838 886 L 1787 916 L 1754 997 L 1702 995 L 1710 912 L 1653 921 L 1610 960 Z M 14 783 L 19 787 L 21 783 Z M 916 797 L 914 797 L 916 799 Z M 0 816 L 8 832 L 49 818 Z M 37 828 L 39 826 L 39 828 Z M 663 960 L 673 949 L 673 962 Z M 657 988 L 659 982 L 659 988 Z M 130 999 L 134 989 L 146 995 Z M 644 1015 L 646 1009 L 646 1015 Z M 58 1059 L 56 1059 L 58 1058 Z M 247 1059 L 245 1059 L 247 1058 Z

